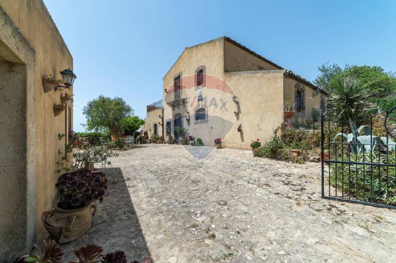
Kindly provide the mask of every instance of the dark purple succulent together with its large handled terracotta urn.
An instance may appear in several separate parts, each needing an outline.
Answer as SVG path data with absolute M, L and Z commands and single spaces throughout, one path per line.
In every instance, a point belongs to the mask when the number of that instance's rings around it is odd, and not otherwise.
M 92 224 L 96 206 L 103 201 L 107 179 L 103 172 L 88 169 L 62 174 L 56 184 L 59 201 L 50 211 L 44 211 L 42 221 L 51 238 L 67 243 L 84 235 Z

